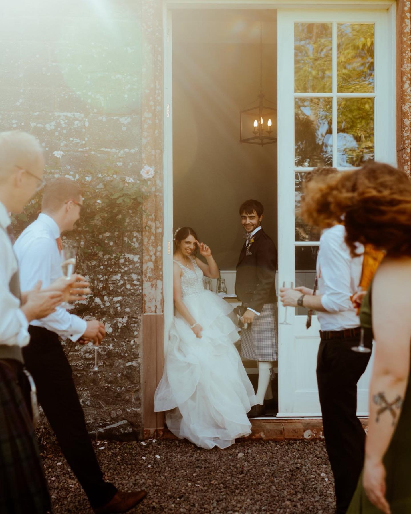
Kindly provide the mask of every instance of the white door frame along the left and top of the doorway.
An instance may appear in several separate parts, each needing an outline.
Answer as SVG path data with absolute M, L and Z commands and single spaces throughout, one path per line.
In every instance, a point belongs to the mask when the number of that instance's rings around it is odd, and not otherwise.
M 344 10 L 387 10 L 390 23 L 389 44 L 393 47 L 393 68 L 391 74 L 395 95 L 395 47 L 396 47 L 396 1 L 395 0 L 163 0 L 163 72 L 164 72 L 164 117 L 163 117 L 163 298 L 164 298 L 164 349 L 168 344 L 169 327 L 173 320 L 173 126 L 172 126 L 172 11 L 174 9 L 344 9 Z M 394 99 L 395 102 L 395 99 Z M 378 113 L 376 112 L 376 117 Z M 395 109 L 393 109 L 392 126 L 395 141 Z M 280 138 L 279 138 L 280 139 Z M 395 153 L 396 146 L 393 145 Z M 395 162 L 395 157 L 393 162 Z M 279 175 L 278 175 L 279 177 Z M 279 179 L 279 178 L 278 178 Z M 279 207 L 279 205 L 278 205 Z M 281 213 L 283 214 L 283 213 Z M 294 213 L 292 213 L 294 216 Z M 280 219 L 278 217 L 278 219 Z M 294 232 L 292 232 L 294 235 Z M 280 244 L 280 239 L 278 244 Z M 279 262 L 279 281 L 285 278 Z M 279 282 L 280 283 L 280 282 Z M 290 313 L 289 313 L 290 314 Z M 281 312 L 283 315 L 283 312 Z M 291 318 L 291 317 L 290 317 Z M 280 367 L 280 366 L 279 366 Z M 281 382 L 279 384 L 281 387 Z M 291 417 L 296 417 L 295 414 Z

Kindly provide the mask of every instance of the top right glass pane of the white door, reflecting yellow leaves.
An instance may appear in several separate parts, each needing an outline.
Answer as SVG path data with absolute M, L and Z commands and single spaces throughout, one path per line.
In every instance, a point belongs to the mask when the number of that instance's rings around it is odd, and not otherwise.
M 373 93 L 374 25 L 337 24 L 338 93 Z

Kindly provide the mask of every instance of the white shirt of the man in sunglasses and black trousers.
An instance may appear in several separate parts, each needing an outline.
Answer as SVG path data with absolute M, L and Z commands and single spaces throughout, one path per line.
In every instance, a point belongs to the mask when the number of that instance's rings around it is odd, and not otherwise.
M 43 213 L 18 237 L 14 251 L 20 268 L 22 291 L 32 289 L 39 280 L 42 281 L 42 288 L 48 287 L 62 276 L 60 252 L 56 242 L 58 237 L 60 229 L 57 223 Z M 84 320 L 68 313 L 62 305 L 56 307 L 54 313 L 46 318 L 31 321 L 30 324 L 47 328 L 61 338 L 72 341 L 77 341 L 87 327 Z

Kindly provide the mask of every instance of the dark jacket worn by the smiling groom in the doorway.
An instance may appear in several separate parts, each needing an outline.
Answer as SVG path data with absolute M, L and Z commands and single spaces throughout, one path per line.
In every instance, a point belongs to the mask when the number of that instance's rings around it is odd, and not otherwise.
M 277 301 L 275 294 L 275 271 L 277 269 L 277 249 L 272 239 L 258 230 L 250 246 L 251 255 L 246 255 L 246 243 L 241 249 L 237 264 L 235 293 L 247 307 L 258 313 L 263 305 Z

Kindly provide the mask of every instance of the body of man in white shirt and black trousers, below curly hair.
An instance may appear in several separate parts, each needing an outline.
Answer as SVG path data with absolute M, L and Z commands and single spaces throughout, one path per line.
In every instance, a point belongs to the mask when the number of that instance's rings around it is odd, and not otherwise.
M 359 245 L 358 253 L 363 251 Z M 350 254 L 344 225 L 334 225 L 323 230 L 320 237 L 316 262 L 318 290 L 280 288 L 279 293 L 284 306 L 316 310 L 320 322 L 316 374 L 324 438 L 334 474 L 336 514 L 348 509 L 364 463 L 365 432 L 357 417 L 357 382 L 370 353 L 351 350 L 358 346 L 361 335 L 360 319 L 351 297 L 358 290 L 362 262 L 362 255 L 352 258 Z M 371 348 L 372 341 L 365 341 L 365 345 Z

